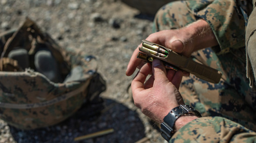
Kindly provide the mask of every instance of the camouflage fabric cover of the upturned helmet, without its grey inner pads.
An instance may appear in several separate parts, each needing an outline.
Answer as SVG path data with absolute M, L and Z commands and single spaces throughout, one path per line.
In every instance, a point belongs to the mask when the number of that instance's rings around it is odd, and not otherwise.
M 17 30 L 0 35 L 0 41 L 0 119 L 20 129 L 47 127 L 73 115 L 86 101 L 97 69 L 93 56 L 59 47 L 30 19 Z M 32 69 L 20 70 L 18 65 L 8 62 L 10 59 L 3 60 L 17 46 L 27 49 L 33 58 L 40 45 L 52 52 L 62 77 L 81 66 L 82 78 L 55 83 Z

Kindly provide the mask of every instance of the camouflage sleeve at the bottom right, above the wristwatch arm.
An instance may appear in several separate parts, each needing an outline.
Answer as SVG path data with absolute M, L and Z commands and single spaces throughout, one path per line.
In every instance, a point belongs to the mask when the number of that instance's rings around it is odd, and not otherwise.
M 222 117 L 203 117 L 183 126 L 169 142 L 256 142 L 256 133 Z

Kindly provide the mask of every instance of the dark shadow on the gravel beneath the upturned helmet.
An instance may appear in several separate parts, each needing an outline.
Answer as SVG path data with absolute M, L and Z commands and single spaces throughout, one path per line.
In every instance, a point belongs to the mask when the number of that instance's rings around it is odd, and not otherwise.
M 114 132 L 80 141 L 75 137 L 113 128 Z M 136 111 L 110 99 L 84 105 L 66 121 L 55 126 L 20 130 L 10 127 L 17 142 L 136 142 L 145 136 Z

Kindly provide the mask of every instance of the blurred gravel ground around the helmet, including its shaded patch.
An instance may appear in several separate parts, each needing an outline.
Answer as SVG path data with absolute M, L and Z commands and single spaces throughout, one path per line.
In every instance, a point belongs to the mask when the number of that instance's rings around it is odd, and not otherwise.
M 100 94 L 103 102 L 84 105 L 48 128 L 25 131 L 0 120 L 0 142 L 165 142 L 134 106 L 127 90 L 134 76 L 125 76 L 134 49 L 151 33 L 152 16 L 118 0 L 0 0 L 0 33 L 18 27 L 27 16 L 60 46 L 96 56 L 106 90 Z M 110 128 L 111 134 L 74 141 Z

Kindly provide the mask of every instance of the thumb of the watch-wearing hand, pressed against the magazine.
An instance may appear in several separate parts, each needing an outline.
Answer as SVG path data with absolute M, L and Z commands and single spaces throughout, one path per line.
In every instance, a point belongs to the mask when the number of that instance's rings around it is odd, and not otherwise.
M 168 80 L 167 76 L 166 76 L 166 70 L 163 66 L 163 63 L 158 60 L 158 59 L 154 59 L 154 61 L 152 62 L 152 66 L 153 66 L 153 74 L 155 76 L 155 80 Z

